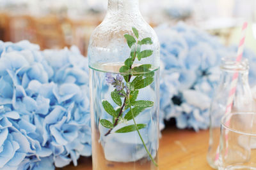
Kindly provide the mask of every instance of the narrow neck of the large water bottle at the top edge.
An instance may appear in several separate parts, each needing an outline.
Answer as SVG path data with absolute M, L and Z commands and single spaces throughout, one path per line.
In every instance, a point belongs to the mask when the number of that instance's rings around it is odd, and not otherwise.
M 107 14 L 140 15 L 139 0 L 108 0 Z

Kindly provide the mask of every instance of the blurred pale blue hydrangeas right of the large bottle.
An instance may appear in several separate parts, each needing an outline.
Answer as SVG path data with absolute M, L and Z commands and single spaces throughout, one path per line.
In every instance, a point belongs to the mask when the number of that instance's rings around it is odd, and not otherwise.
M 221 57 L 236 56 L 236 47 L 182 22 L 156 28 L 161 44 L 160 120 L 175 118 L 180 129 L 207 129 L 209 106 L 220 77 Z M 255 54 L 244 51 L 250 61 L 250 83 L 255 84 Z

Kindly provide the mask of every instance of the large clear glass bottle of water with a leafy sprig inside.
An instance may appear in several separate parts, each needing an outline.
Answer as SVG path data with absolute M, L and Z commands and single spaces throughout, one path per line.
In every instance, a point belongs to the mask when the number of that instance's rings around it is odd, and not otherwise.
M 138 0 L 109 0 L 88 47 L 93 169 L 158 169 L 159 42 Z

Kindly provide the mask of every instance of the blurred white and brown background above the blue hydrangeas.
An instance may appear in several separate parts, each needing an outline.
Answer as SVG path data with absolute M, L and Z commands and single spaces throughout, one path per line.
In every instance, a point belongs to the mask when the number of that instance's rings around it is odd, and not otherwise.
M 0 40 L 22 39 L 40 48 L 76 45 L 84 56 L 93 29 L 102 22 L 108 0 L 0 0 Z M 241 23 L 250 25 L 246 46 L 256 52 L 255 0 L 140 0 L 141 14 L 152 25 L 179 21 L 237 44 Z

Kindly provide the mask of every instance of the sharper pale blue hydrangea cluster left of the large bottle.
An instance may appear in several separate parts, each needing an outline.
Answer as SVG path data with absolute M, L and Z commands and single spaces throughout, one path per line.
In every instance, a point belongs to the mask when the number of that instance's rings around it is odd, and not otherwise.
M 92 154 L 87 67 L 76 47 L 0 41 L 0 169 L 54 169 Z

